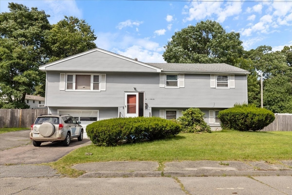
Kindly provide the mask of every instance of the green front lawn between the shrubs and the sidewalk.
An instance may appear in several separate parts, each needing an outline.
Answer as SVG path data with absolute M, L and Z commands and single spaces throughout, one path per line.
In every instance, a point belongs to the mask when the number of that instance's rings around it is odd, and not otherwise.
M 71 169 L 79 163 L 106 161 L 271 161 L 291 160 L 292 132 L 219 131 L 178 134 L 167 139 L 114 147 L 89 145 L 78 148 L 50 165 L 60 173 L 77 177 Z M 85 153 L 92 153 L 85 156 Z

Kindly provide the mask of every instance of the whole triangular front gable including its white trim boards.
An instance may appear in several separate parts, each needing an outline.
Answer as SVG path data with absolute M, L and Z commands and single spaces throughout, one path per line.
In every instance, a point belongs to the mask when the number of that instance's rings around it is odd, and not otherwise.
M 100 48 L 42 65 L 39 69 L 44 71 L 161 72 L 161 69 L 155 66 Z

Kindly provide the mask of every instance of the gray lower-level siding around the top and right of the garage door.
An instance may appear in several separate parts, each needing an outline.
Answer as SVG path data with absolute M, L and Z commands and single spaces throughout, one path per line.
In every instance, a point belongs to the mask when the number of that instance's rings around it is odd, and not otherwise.
M 57 113 L 58 109 L 66 110 L 99 110 L 99 120 L 118 117 L 117 107 L 49 107 L 50 113 Z

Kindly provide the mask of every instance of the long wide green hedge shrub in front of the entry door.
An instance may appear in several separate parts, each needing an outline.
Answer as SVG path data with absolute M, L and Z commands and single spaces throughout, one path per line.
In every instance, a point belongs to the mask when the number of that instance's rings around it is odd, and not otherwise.
M 112 118 L 93 122 L 86 127 L 86 134 L 92 143 L 100 146 L 115 146 L 124 140 L 135 143 L 163 139 L 179 132 L 180 125 L 157 117 Z

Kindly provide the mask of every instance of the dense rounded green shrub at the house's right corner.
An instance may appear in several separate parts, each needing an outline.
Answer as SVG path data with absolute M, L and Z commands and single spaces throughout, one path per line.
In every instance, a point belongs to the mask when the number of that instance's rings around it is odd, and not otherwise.
M 242 104 L 220 111 L 218 118 L 222 129 L 258 131 L 273 122 L 275 115 L 265 108 Z

